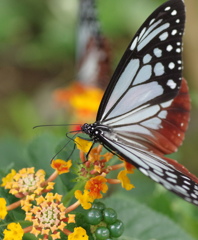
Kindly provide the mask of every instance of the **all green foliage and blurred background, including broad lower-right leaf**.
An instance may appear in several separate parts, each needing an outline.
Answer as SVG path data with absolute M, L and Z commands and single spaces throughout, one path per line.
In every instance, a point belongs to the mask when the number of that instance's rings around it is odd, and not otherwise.
M 112 46 L 115 68 L 123 51 L 145 18 L 163 1 L 100 0 L 99 16 Z M 186 0 L 187 29 L 184 38 L 184 75 L 190 86 L 192 114 L 184 145 L 171 157 L 198 175 L 198 73 L 196 45 L 198 6 Z M 189 8 L 188 8 L 189 6 Z M 192 7 L 193 6 L 193 7 Z M 71 118 L 59 109 L 53 90 L 75 79 L 75 31 L 77 0 L 0 1 L 0 176 L 14 168 L 43 168 L 52 173 L 50 159 L 67 141 L 67 128 L 39 128 L 38 124 L 67 123 Z M 198 14 L 197 14 L 198 15 Z M 197 21 L 197 22 L 195 22 Z M 192 30 L 191 30 L 192 29 Z M 192 60 L 191 60 L 192 59 Z M 194 61 L 193 61 L 194 59 Z M 70 151 L 70 148 L 67 149 Z M 78 153 L 73 159 L 78 161 Z M 71 176 L 70 176 L 71 177 Z M 66 177 L 65 177 L 66 178 Z M 56 191 L 65 194 L 71 186 L 57 180 Z M 67 179 L 69 180 L 69 179 Z M 184 202 L 142 174 L 131 177 L 136 188 L 126 192 L 111 188 L 106 205 L 114 206 L 126 225 L 125 236 L 133 240 L 190 240 L 198 238 L 198 208 Z M 2 196 L 7 196 L 1 190 Z M 10 199 L 13 200 L 13 199 Z M 130 214 L 128 214 L 130 212 Z M 14 216 L 20 218 L 15 212 Z M 30 235 L 24 239 L 31 239 Z M 32 238 L 34 239 L 34 238 Z

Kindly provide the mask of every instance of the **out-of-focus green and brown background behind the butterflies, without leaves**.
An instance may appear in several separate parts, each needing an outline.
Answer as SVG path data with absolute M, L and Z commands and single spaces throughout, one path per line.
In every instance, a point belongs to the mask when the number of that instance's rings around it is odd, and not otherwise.
M 97 1 L 102 30 L 112 48 L 112 69 L 116 67 L 138 27 L 162 2 Z M 173 154 L 173 158 L 198 176 L 198 1 L 186 0 L 185 3 L 184 76 L 190 88 L 192 113 L 184 145 L 178 153 Z M 32 127 L 38 124 L 67 123 L 64 110 L 56 106 L 52 95 L 56 88 L 65 87 L 75 79 L 77 12 L 77 0 L 0 1 L 0 163 L 6 163 L 6 154 L 3 153 L 12 151 L 12 139 L 19 140 L 17 147 L 20 156 L 21 144 L 29 143 L 43 132 L 52 132 L 57 140 L 59 137 L 64 138 L 64 128 L 32 130 Z M 41 152 L 48 151 L 47 144 L 53 141 L 46 137 L 46 142 Z M 49 144 L 50 147 L 52 145 Z M 49 159 L 51 154 L 49 151 Z M 155 199 L 156 202 L 150 205 L 155 204 L 157 209 L 156 203 L 161 200 L 158 197 Z M 177 203 L 178 198 L 175 199 Z M 177 209 L 177 204 L 174 206 Z M 182 200 L 180 206 L 184 206 L 189 218 L 195 214 L 194 211 L 198 215 L 196 207 Z M 198 216 L 195 218 L 196 221 L 185 218 L 189 225 L 183 223 L 194 236 L 198 234 L 195 230 Z M 192 226 L 193 221 L 195 226 Z

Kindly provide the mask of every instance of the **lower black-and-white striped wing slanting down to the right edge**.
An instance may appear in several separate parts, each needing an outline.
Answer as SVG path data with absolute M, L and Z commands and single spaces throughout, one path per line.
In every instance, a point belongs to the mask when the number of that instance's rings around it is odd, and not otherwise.
M 198 178 L 175 160 L 148 153 L 144 149 L 127 146 L 122 142 L 112 142 L 108 135 L 104 143 L 136 166 L 144 175 L 150 177 L 166 189 L 186 201 L 198 205 Z

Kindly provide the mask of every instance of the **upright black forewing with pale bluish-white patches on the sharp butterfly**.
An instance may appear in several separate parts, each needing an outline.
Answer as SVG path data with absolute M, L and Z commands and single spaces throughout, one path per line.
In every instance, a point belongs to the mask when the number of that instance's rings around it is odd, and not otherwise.
M 177 95 L 184 23 L 182 0 L 168 1 L 148 17 L 116 68 L 97 121 L 118 117 L 147 104 L 163 103 Z

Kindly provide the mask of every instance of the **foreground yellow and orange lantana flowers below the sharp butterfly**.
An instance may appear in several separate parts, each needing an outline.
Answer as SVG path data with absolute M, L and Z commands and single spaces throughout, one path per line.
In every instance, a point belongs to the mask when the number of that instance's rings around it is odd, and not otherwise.
M 28 232 L 38 239 L 55 240 L 67 235 L 69 240 L 88 240 L 86 230 L 76 225 L 73 211 L 79 206 L 86 210 L 90 209 L 96 199 L 103 198 L 109 189 L 109 184 L 120 183 L 126 190 L 134 188 L 128 178 L 128 174 L 134 171 L 131 164 L 121 160 L 119 164 L 110 165 L 113 154 L 103 153 L 101 145 L 91 149 L 92 143 L 79 137 L 75 142 L 80 150 L 81 163 L 73 170 L 71 170 L 71 160 L 56 159 L 51 162 L 54 172 L 48 179 L 45 178 L 44 170 L 35 171 L 34 168 L 24 168 L 18 172 L 12 169 L 2 179 L 1 186 L 18 200 L 9 205 L 5 198 L 0 198 L 0 218 L 5 221 L 8 212 L 17 207 L 25 212 L 25 219 L 21 219 L 21 224 L 19 222 L 7 225 L 7 229 L 3 232 L 3 240 L 20 240 Z M 121 168 L 124 170 L 119 172 L 116 179 L 108 178 L 110 172 Z M 55 179 L 60 174 L 70 171 L 76 174 L 76 186 L 67 194 L 71 199 L 75 197 L 76 201 L 66 207 L 63 201 L 65 196 L 53 193 L 52 190 Z M 28 227 L 27 224 L 26 227 L 22 227 L 24 220 L 28 223 Z

